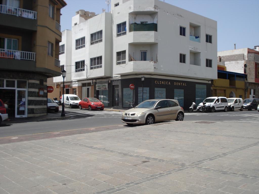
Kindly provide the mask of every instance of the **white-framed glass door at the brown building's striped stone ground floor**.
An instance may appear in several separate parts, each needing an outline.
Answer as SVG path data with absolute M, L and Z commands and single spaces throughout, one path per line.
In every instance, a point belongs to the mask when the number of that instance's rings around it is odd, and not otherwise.
M 27 117 L 26 110 L 26 89 L 17 89 L 15 117 Z

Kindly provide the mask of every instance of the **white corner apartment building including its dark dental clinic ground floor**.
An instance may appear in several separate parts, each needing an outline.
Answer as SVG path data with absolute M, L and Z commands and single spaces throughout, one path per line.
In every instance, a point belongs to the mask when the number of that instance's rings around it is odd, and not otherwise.
M 119 109 L 128 101 L 140 103 L 142 96 L 177 99 L 188 109 L 193 100 L 211 95 L 211 80 L 217 79 L 216 21 L 159 0 L 112 0 L 110 13 L 77 13 L 60 43 L 65 48 L 60 64 L 70 74 L 67 93 Z

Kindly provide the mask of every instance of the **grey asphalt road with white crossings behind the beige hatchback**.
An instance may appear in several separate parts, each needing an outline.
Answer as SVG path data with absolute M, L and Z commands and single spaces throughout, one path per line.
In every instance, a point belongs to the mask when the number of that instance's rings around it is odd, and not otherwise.
M 65 111 L 67 115 L 71 115 L 74 119 L 1 125 L 0 144 L 129 127 L 121 122 L 121 112 L 88 111 L 70 108 L 65 108 Z M 226 113 L 185 113 L 184 121 L 196 120 L 259 123 L 259 112 L 257 110 L 236 110 Z

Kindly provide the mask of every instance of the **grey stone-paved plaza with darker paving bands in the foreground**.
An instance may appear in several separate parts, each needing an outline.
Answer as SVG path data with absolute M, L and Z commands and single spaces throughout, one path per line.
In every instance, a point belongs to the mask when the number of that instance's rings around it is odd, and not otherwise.
M 171 121 L 1 144 L 0 194 L 259 193 L 258 131 Z

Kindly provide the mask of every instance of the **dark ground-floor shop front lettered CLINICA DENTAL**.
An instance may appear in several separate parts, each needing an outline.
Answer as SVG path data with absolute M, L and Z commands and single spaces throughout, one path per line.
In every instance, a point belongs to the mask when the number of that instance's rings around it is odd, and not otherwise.
M 135 105 L 148 99 L 176 99 L 184 110 L 188 110 L 191 103 L 202 102 L 211 95 L 210 81 L 189 81 L 171 80 L 161 78 L 146 77 L 141 81 L 141 77 L 112 80 L 109 83 L 109 107 L 117 109 L 127 109 L 129 102 L 135 101 Z M 130 88 L 134 84 L 135 89 Z M 143 84 L 143 89 L 142 89 Z M 112 91 L 112 92 L 110 92 Z

